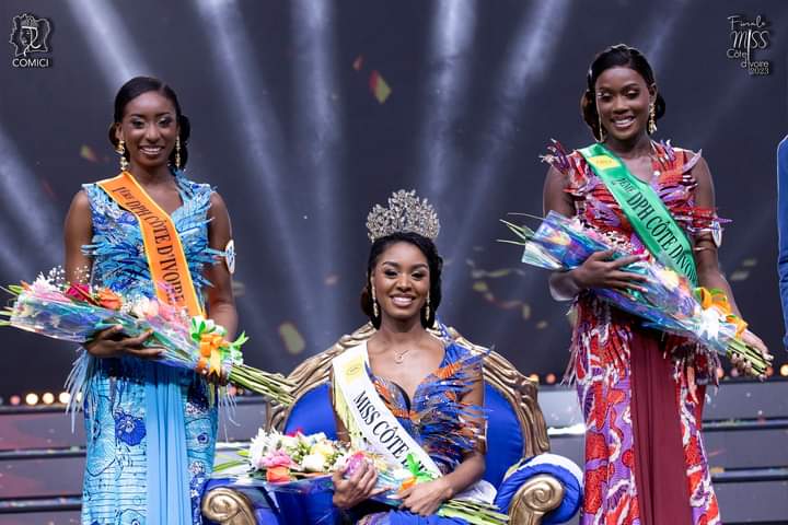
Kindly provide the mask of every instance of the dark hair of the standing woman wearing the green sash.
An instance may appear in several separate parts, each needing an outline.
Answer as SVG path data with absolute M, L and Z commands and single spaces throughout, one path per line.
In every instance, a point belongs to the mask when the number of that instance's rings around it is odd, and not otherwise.
M 591 67 L 589 67 L 587 77 L 588 86 L 580 98 L 580 110 L 582 113 L 583 120 L 586 120 L 586 124 L 588 124 L 589 128 L 591 128 L 591 132 L 596 140 L 602 140 L 599 129 L 600 124 L 599 114 L 596 113 L 596 100 L 594 96 L 596 79 L 599 79 L 604 71 L 616 67 L 629 68 L 637 71 L 646 81 L 646 85 L 650 86 L 654 83 L 654 74 L 651 69 L 651 65 L 648 60 L 646 60 L 642 52 L 634 47 L 627 46 L 626 44 L 618 44 L 611 46 L 596 55 L 593 62 L 591 62 Z M 654 101 L 654 118 L 659 120 L 664 115 L 664 112 L 665 102 L 662 95 L 658 92 L 657 101 Z

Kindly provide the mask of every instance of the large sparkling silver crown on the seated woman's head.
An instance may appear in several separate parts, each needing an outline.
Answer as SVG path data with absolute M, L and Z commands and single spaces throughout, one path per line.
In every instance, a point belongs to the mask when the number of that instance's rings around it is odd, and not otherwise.
M 371 242 L 395 232 L 414 232 L 434 241 L 440 232 L 440 221 L 427 199 L 416 197 L 416 190 L 394 191 L 389 197 L 389 208 L 375 205 L 367 215 L 367 235 Z

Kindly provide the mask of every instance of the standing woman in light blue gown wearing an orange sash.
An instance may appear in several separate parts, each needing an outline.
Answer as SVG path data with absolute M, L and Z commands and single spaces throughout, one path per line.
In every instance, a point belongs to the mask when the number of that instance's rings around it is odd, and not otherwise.
M 171 220 L 179 240 L 174 245 L 185 256 L 178 276 L 189 287 L 185 295 L 231 338 L 237 316 L 230 217 L 209 185 L 184 176 L 188 138 L 188 118 L 170 86 L 138 77 L 120 88 L 109 141 L 121 174 L 112 180 L 126 177 L 141 201 Z M 112 180 L 85 184 L 71 202 L 67 278 L 127 298 L 155 298 L 157 255 L 147 252 L 152 245 L 143 242 L 142 215 L 107 191 Z M 159 350 L 144 347 L 148 336 L 128 337 L 119 327 L 101 331 L 72 372 L 83 394 L 88 440 L 85 525 L 201 523 L 200 494 L 213 466 L 216 386 L 157 363 Z

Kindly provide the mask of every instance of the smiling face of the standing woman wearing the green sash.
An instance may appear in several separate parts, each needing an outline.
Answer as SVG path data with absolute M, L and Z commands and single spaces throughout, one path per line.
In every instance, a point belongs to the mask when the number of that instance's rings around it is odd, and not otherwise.
M 649 106 L 654 102 L 657 88 L 626 67 L 606 69 L 594 85 L 596 112 L 602 127 L 618 141 L 630 141 L 646 132 Z

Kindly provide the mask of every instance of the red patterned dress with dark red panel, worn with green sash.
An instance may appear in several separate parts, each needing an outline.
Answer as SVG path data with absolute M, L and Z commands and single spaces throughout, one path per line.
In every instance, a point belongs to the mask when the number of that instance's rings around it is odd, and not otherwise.
M 691 238 L 719 229 L 715 210 L 695 206 L 692 168 L 700 159 L 653 143 L 651 187 Z M 633 254 L 647 249 L 600 178 L 559 143 L 545 161 L 566 175 L 565 189 L 586 225 Z M 642 328 L 640 322 L 583 292 L 576 300 L 572 362 L 586 419 L 582 524 L 711 525 L 720 522 L 700 439 L 704 388 L 717 361 L 705 349 Z

